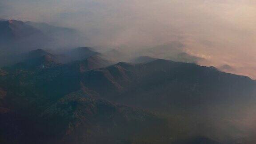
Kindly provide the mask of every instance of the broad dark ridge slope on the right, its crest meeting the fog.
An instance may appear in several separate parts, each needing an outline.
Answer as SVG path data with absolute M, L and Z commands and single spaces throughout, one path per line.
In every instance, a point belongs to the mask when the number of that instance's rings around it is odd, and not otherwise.
M 245 76 L 168 60 L 138 65 L 119 63 L 85 72 L 83 82 L 109 100 L 167 109 L 245 102 L 256 88 L 256 82 Z

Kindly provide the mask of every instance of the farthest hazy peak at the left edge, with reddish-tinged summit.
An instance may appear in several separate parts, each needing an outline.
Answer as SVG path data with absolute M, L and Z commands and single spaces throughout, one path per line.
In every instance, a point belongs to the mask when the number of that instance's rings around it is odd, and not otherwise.
M 43 47 L 51 38 L 19 20 L 0 21 L 0 49 L 20 52 Z

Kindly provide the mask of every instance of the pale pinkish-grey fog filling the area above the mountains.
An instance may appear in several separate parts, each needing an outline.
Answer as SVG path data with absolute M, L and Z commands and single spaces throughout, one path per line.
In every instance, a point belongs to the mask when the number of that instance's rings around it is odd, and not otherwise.
M 137 50 L 178 41 L 210 61 L 202 65 L 227 64 L 256 78 L 254 0 L 1 0 L 0 17 L 76 28 L 93 47 Z

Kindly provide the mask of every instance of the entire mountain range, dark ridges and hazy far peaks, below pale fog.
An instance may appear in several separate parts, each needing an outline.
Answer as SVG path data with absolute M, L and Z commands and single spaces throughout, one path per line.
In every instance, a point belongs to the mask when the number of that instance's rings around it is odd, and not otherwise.
M 0 143 L 256 142 L 256 81 L 201 66 L 180 42 L 104 50 L 44 23 L 0 31 Z

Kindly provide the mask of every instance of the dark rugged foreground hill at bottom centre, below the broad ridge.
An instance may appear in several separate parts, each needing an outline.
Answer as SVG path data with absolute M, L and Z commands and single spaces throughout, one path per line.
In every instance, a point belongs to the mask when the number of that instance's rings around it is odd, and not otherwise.
M 44 124 L 47 122 L 45 135 L 54 136 L 54 143 L 140 143 L 144 139 L 154 143 L 154 139 L 166 134 L 164 120 L 151 113 L 79 95 L 72 93 L 61 98 L 40 116 Z M 148 132 L 152 129 L 158 133 Z

